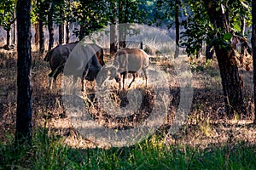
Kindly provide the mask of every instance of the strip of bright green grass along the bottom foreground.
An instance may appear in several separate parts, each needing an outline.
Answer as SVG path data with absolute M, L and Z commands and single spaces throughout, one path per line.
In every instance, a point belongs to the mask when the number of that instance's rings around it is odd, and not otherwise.
M 166 146 L 155 136 L 131 147 L 73 149 L 63 139 L 34 133 L 32 147 L 0 144 L 0 169 L 256 169 L 255 145 L 207 149 Z

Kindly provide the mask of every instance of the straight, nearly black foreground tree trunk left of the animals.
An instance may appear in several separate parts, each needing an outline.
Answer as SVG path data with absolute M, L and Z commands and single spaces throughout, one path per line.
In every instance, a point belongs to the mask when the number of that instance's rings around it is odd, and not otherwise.
M 18 61 L 15 144 L 32 144 L 31 0 L 17 2 Z

